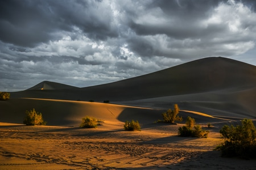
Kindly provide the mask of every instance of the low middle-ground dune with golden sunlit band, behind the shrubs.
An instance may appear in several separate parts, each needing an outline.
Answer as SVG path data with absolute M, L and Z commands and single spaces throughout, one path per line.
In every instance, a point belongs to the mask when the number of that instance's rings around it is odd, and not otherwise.
M 126 120 L 138 120 L 142 125 L 152 124 L 162 119 L 161 114 L 164 112 L 160 109 L 55 99 L 10 99 L 0 101 L 0 107 L 0 122 L 22 124 L 25 111 L 35 108 L 43 114 L 47 125 L 77 127 L 81 124 L 82 117 L 90 116 L 104 121 L 104 124 L 119 126 L 119 129 L 123 128 Z M 180 112 L 180 116 L 192 116 L 199 123 L 222 121 L 202 113 Z

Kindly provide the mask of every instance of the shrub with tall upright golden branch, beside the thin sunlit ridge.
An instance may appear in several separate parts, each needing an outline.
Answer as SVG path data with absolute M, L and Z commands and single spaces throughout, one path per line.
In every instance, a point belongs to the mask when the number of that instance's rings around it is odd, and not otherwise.
M 164 122 L 171 122 L 174 124 L 175 121 L 182 121 L 182 117 L 177 116 L 179 114 L 179 107 L 177 104 L 174 105 L 174 110 L 168 109 L 168 111 L 162 113 Z

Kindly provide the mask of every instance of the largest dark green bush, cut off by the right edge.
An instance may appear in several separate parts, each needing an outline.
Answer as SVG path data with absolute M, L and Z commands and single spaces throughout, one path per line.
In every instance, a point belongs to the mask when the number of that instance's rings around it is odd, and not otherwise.
M 256 128 L 253 121 L 243 119 L 241 125 L 224 125 L 220 130 L 224 143 L 216 147 L 222 151 L 222 156 L 249 159 L 256 158 Z

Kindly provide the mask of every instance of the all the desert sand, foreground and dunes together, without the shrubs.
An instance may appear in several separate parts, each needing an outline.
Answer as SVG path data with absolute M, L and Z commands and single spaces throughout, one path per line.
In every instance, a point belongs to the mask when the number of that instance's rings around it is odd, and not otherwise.
M 213 150 L 223 142 L 222 126 L 255 122 L 255 93 L 255 66 L 221 57 L 87 88 L 42 82 L 0 101 L 0 169 L 255 169 L 255 159 Z M 156 123 L 174 104 L 184 121 Z M 23 125 L 33 108 L 47 126 Z M 79 128 L 85 116 L 102 125 Z M 187 116 L 208 138 L 177 136 Z M 138 120 L 142 130 L 123 130 L 126 120 Z

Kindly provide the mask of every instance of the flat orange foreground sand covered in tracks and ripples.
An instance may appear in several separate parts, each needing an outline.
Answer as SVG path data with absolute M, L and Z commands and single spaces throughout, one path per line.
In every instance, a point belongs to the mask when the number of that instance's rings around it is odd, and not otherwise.
M 124 131 L 0 123 L 0 169 L 254 169 L 256 160 L 221 158 L 219 128 L 209 138 L 177 137 L 181 125 L 142 125 Z

